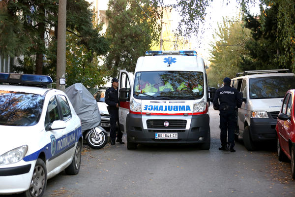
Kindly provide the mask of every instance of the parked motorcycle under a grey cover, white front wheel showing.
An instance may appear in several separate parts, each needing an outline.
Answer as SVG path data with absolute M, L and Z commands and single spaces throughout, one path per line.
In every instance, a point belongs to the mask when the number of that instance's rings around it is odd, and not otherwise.
M 108 142 L 108 134 L 99 126 L 101 117 L 94 97 L 81 83 L 75 83 L 66 88 L 65 93 L 81 120 L 83 138 L 89 147 L 103 148 Z

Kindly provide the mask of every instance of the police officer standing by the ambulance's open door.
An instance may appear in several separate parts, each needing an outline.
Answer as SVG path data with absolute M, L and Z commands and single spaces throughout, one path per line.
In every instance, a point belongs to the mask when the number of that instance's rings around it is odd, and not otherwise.
M 110 114 L 110 123 L 111 123 L 111 145 L 115 145 L 116 140 L 116 123 L 118 122 L 119 126 L 119 104 L 118 104 L 118 79 L 112 79 L 112 87 L 106 90 L 105 93 L 105 102 L 109 105 L 108 111 Z M 117 142 L 124 144 L 122 141 L 122 132 L 120 126 L 118 127 Z

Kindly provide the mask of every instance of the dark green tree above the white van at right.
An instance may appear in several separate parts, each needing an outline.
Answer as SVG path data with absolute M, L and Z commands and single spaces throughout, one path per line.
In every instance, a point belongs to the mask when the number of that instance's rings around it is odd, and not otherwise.
M 246 43 L 249 56 L 241 62 L 243 69 L 295 70 L 295 2 L 262 0 L 259 16 L 245 10 L 245 27 L 253 39 Z

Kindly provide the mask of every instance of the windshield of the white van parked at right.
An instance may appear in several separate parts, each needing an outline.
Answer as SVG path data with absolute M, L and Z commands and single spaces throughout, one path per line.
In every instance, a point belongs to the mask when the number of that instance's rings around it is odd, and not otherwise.
M 250 99 L 284 98 L 295 88 L 295 76 L 273 76 L 249 79 Z

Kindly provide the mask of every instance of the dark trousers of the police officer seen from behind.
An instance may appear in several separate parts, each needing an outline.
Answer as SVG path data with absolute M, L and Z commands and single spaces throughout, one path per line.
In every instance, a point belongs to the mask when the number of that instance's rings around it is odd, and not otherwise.
M 221 146 L 227 144 L 227 133 L 229 133 L 229 143 L 235 146 L 236 112 L 235 110 L 220 110 L 220 141 Z

